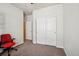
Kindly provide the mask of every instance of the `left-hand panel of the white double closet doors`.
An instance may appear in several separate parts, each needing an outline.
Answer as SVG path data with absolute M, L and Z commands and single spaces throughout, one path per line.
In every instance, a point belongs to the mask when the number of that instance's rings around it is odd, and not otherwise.
M 39 17 L 36 19 L 36 21 L 37 21 L 37 43 L 46 44 L 45 19 L 44 17 Z

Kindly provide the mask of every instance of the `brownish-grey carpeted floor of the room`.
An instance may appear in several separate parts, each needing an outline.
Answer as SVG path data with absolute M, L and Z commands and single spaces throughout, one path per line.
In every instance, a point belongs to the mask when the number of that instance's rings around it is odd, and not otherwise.
M 16 47 L 18 51 L 11 50 L 11 56 L 65 56 L 64 50 L 55 46 L 32 44 L 27 40 Z M 7 56 L 7 51 L 2 55 Z

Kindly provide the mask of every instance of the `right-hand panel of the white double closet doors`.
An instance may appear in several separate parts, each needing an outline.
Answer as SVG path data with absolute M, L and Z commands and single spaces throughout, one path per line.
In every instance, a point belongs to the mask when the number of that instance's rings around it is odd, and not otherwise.
M 56 46 L 56 18 L 46 18 L 46 44 Z

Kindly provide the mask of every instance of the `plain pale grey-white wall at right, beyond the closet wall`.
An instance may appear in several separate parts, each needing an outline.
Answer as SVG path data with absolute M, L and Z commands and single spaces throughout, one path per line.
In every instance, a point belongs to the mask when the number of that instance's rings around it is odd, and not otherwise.
M 79 56 L 79 4 L 64 4 L 64 50 Z

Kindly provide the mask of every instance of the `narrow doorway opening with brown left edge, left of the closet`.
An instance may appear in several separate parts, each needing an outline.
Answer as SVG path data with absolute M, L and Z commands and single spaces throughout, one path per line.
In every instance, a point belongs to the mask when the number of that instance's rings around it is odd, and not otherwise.
M 24 42 L 25 41 L 32 41 L 33 40 L 33 26 L 32 26 L 32 15 L 25 15 L 24 14 Z

